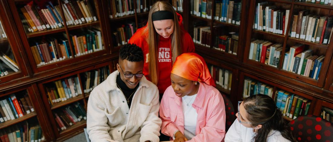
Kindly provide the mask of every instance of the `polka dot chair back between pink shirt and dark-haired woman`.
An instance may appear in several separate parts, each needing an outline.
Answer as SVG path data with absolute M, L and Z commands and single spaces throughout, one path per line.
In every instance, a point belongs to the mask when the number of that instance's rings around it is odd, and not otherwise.
M 225 131 L 228 131 L 233 121 L 235 121 L 235 109 L 232 106 L 230 99 L 222 94 L 224 105 L 225 105 Z

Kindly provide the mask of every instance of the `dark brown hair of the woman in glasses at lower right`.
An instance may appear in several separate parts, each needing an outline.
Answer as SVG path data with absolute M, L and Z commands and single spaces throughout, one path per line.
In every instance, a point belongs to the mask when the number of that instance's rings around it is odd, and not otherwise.
M 291 133 L 290 125 L 286 124 L 272 98 L 262 94 L 253 95 L 245 98 L 243 105 L 252 126 L 262 125 L 253 137 L 254 142 L 266 142 L 271 130 L 279 131 L 284 138 L 292 142 L 296 141 Z

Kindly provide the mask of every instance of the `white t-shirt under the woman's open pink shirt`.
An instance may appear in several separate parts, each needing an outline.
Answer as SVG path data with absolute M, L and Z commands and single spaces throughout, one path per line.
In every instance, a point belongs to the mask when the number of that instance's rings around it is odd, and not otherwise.
M 195 136 L 196 118 L 198 117 L 198 113 L 192 107 L 195 97 L 196 94 L 181 98 L 181 107 L 184 114 L 184 136 L 188 140 Z

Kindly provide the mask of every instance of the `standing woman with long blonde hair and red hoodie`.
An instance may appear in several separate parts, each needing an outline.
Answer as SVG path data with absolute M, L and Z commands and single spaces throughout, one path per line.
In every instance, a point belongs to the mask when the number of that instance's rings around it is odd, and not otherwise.
M 159 88 L 162 94 L 171 85 L 170 71 L 176 57 L 182 53 L 194 52 L 191 36 L 183 29 L 182 17 L 167 1 L 153 4 L 148 23 L 131 37 L 144 51 L 144 74 Z

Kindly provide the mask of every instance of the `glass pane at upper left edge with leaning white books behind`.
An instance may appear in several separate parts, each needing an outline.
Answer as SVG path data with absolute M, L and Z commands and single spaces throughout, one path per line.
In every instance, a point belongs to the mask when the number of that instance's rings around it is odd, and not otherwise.
M 0 76 L 6 76 L 20 70 L 10 47 L 5 29 L 0 20 Z

